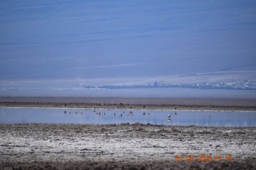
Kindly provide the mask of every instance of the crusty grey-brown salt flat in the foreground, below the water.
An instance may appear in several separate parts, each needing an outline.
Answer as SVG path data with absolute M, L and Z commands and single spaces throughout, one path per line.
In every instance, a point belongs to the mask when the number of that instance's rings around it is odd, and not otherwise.
M 199 155 L 208 156 L 197 161 Z M 256 127 L 0 124 L 0 167 L 256 169 Z

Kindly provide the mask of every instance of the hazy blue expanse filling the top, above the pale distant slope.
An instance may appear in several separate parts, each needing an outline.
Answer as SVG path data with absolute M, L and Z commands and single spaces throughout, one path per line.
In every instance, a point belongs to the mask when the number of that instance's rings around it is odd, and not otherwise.
M 0 81 L 256 80 L 254 0 L 0 3 Z

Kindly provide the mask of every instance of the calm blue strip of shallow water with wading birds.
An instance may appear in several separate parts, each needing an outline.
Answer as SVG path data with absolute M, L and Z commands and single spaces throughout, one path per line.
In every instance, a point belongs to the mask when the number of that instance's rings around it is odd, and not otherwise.
M 171 117 L 168 118 L 168 115 Z M 151 123 L 196 126 L 256 126 L 256 112 L 1 108 L 0 123 Z

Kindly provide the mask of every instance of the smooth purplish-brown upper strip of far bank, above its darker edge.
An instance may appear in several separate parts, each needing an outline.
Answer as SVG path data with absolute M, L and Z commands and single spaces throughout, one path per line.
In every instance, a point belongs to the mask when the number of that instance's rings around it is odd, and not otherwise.
M 256 106 L 256 99 L 237 98 L 118 98 L 118 97 L 0 97 L 0 102 L 28 103 L 106 103 L 106 104 L 172 104 L 172 105 L 215 105 Z

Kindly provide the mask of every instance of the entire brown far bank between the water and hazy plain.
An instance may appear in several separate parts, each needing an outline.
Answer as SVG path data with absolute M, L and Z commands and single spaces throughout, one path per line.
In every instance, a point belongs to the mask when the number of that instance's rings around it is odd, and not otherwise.
M 122 104 L 121 104 L 122 103 Z M 256 100 L 1 97 L 0 107 L 256 111 Z

